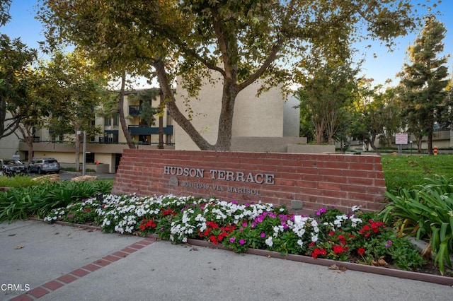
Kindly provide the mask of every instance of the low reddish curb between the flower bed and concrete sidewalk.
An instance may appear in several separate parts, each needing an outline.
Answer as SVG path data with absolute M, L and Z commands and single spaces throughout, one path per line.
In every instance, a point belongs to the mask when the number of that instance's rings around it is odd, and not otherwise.
M 30 218 L 30 220 L 38 220 L 38 221 L 43 222 L 43 220 L 41 220 L 39 218 Z M 82 229 L 86 229 L 86 230 L 99 230 L 99 231 L 102 230 L 101 227 L 93 226 L 93 225 L 71 224 L 71 223 L 62 222 L 62 221 L 56 221 L 55 223 L 57 223 L 59 225 L 68 225 L 71 227 L 82 228 Z M 154 240 L 160 240 L 159 236 L 156 234 L 148 234 L 148 235 L 145 235 L 145 237 L 151 238 Z M 197 247 L 207 247 L 210 249 L 222 249 L 225 251 L 234 252 L 233 250 L 223 247 L 222 245 L 212 244 L 212 242 L 206 242 L 205 240 L 188 239 L 187 244 L 191 244 L 191 245 L 194 245 Z M 262 249 L 248 249 L 246 254 L 297 261 L 297 262 L 302 262 L 305 264 L 316 264 L 319 266 L 333 266 L 333 265 L 336 265 L 338 267 L 343 266 L 347 270 L 351 270 L 351 271 L 374 273 L 374 274 L 379 274 L 379 275 L 383 275 L 383 276 L 390 276 L 390 277 L 403 278 L 403 279 L 409 279 L 409 280 L 415 280 L 415 281 L 423 281 L 423 282 L 428 282 L 428 283 L 436 283 L 436 284 L 440 284 L 440 285 L 453 286 L 453 277 L 447 277 L 447 276 L 431 275 L 431 274 L 418 273 L 418 272 L 412 272 L 412 271 L 403 271 L 403 270 L 397 270 L 397 269 L 393 269 L 393 268 L 385 268 L 385 267 L 381 267 L 381 266 L 366 266 L 365 264 L 355 264 L 355 263 L 347 262 L 347 261 L 335 261 L 332 259 L 321 259 L 321 258 L 314 259 L 310 256 L 303 256 L 303 255 L 295 255 L 295 254 L 282 255 L 278 252 L 267 251 L 267 250 L 262 250 Z

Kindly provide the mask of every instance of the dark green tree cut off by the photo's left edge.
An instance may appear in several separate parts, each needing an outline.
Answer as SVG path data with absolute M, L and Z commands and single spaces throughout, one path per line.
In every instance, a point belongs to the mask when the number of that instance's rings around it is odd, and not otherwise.
M 13 134 L 28 114 L 30 64 L 36 56 L 20 39 L 0 35 L 0 138 Z

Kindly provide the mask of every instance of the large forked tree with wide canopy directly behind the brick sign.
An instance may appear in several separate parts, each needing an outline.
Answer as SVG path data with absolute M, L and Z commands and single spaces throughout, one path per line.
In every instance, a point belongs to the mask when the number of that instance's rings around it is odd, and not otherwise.
M 391 46 L 414 27 L 408 0 L 205 1 L 43 0 L 47 33 L 84 47 L 100 66 L 154 71 L 171 116 L 202 150 L 229 150 L 236 96 L 262 79 L 290 84 L 309 51 L 341 57 L 350 37 Z M 395 5 L 398 4 L 398 5 Z M 141 72 L 140 71 L 140 72 Z M 217 141 L 208 143 L 176 106 L 176 76 L 190 95 L 212 73 L 223 85 Z

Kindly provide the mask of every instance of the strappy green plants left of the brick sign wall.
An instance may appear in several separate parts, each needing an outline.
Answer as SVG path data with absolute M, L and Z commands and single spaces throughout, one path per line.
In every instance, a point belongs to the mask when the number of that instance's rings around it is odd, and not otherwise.
M 108 194 L 110 190 L 111 182 L 108 181 L 64 181 L 8 189 L 0 194 L 0 222 L 30 216 L 43 218 L 53 208 L 67 206 L 97 193 Z

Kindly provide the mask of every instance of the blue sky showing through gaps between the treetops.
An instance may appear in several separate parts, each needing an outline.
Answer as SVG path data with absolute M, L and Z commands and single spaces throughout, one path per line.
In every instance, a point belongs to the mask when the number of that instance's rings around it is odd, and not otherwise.
M 416 5 L 420 2 L 430 1 L 431 4 L 437 3 L 437 0 L 413 0 L 412 4 Z M 0 28 L 0 33 L 4 33 L 11 38 L 21 37 L 21 41 L 28 47 L 39 49 L 38 41 L 44 40 L 42 36 L 42 25 L 38 20 L 35 20 L 35 5 L 38 0 L 13 0 L 11 4 L 10 14 L 12 19 L 4 27 Z M 437 4 L 437 11 L 440 11 L 440 16 L 437 17 L 445 28 L 447 33 L 445 40 L 445 55 L 450 54 L 451 57 L 447 63 L 449 74 L 452 74 L 453 65 L 453 0 L 442 0 Z M 424 15 L 425 8 L 418 8 L 418 12 Z M 413 45 L 415 38 L 420 30 L 406 35 L 405 37 L 398 37 L 396 47 L 393 52 L 377 42 L 364 42 L 360 45 L 355 45 L 360 53 L 365 54 L 365 64 L 362 65 L 362 74 L 367 78 L 373 78 L 374 83 L 382 83 L 386 79 L 391 79 L 391 85 L 398 83 L 396 73 L 401 71 L 403 64 L 407 61 L 406 49 L 408 46 Z M 365 46 L 371 44 L 371 48 Z M 376 54 L 377 57 L 374 57 Z M 362 57 L 362 56 L 360 56 Z

